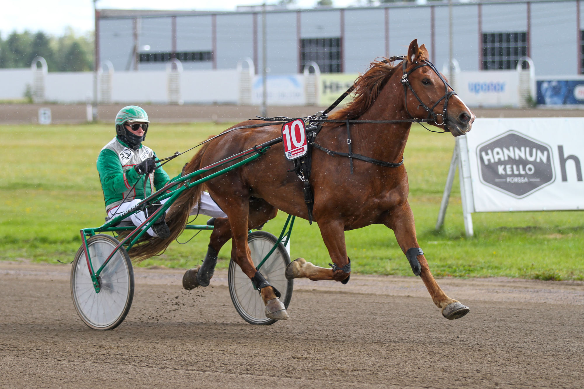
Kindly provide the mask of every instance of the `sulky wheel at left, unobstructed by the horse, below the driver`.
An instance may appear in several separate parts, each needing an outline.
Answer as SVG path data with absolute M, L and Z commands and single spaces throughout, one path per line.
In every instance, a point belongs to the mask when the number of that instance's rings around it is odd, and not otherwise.
M 93 270 L 98 271 L 103 262 L 119 244 L 106 234 L 87 239 L 89 258 Z M 113 329 L 124 321 L 134 297 L 134 272 L 130 256 L 121 247 L 107 262 L 98 277 L 99 293 L 95 293 L 89 275 L 85 251 L 79 248 L 71 268 L 71 297 L 79 317 L 93 329 Z

